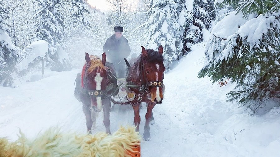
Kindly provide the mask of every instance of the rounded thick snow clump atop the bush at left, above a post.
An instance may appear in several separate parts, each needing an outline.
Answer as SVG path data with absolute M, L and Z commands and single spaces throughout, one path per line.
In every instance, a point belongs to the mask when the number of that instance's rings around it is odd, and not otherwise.
M 38 40 L 28 45 L 25 51 L 21 52 L 21 58 L 23 59 L 19 63 L 20 69 L 26 69 L 28 67 L 28 64 L 38 56 L 44 57 L 48 50 L 48 42 L 44 40 Z

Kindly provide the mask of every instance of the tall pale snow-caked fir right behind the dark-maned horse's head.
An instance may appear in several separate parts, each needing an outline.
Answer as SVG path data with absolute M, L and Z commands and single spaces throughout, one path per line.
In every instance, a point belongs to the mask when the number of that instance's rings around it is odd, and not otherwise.
M 162 45 L 164 48 L 166 69 L 177 58 L 177 42 L 179 25 L 177 23 L 177 6 L 173 0 L 151 0 L 146 25 L 147 48 L 155 49 Z

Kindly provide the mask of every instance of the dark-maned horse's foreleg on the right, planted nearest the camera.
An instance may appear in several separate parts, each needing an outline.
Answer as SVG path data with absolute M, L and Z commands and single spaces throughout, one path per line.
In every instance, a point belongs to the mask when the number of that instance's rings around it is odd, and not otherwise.
M 144 126 L 144 134 L 143 134 L 143 140 L 144 141 L 150 141 L 151 134 L 150 134 L 150 120 L 152 117 L 152 110 L 155 107 L 156 103 L 149 102 L 147 107 L 147 113 L 146 113 L 146 122 Z

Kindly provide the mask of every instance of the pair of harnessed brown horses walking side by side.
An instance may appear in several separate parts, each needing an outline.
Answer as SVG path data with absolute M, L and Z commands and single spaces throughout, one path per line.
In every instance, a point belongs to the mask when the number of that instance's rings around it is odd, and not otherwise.
M 161 104 L 164 95 L 163 72 L 163 47 L 158 48 L 158 52 L 142 47 L 141 55 L 128 68 L 126 78 L 126 91 L 133 91 L 136 98 L 130 101 L 134 110 L 134 124 L 136 131 L 139 131 L 140 115 L 139 106 L 141 102 L 147 104 L 146 123 L 144 126 L 143 139 L 149 141 L 150 124 L 154 123 L 152 109 L 156 104 Z M 80 100 L 83 103 L 83 111 L 86 115 L 87 131 L 91 133 L 91 127 L 95 126 L 95 114 L 103 108 L 104 125 L 106 133 L 110 132 L 110 98 L 117 85 L 113 67 L 106 64 L 106 55 L 102 54 L 100 60 L 96 56 L 90 57 L 86 53 L 86 64 L 82 70 Z M 112 86 L 112 87 L 110 87 Z M 84 92 L 83 92 L 84 91 Z M 94 123 L 93 123 L 94 121 Z

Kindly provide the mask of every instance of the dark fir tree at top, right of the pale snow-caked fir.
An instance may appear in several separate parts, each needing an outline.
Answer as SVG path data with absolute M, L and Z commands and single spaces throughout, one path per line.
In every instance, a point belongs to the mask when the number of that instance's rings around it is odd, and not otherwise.
M 191 47 L 203 39 L 202 30 L 210 29 L 215 20 L 214 0 L 178 0 L 182 54 L 190 52 Z M 183 31 L 183 32 L 182 32 Z

